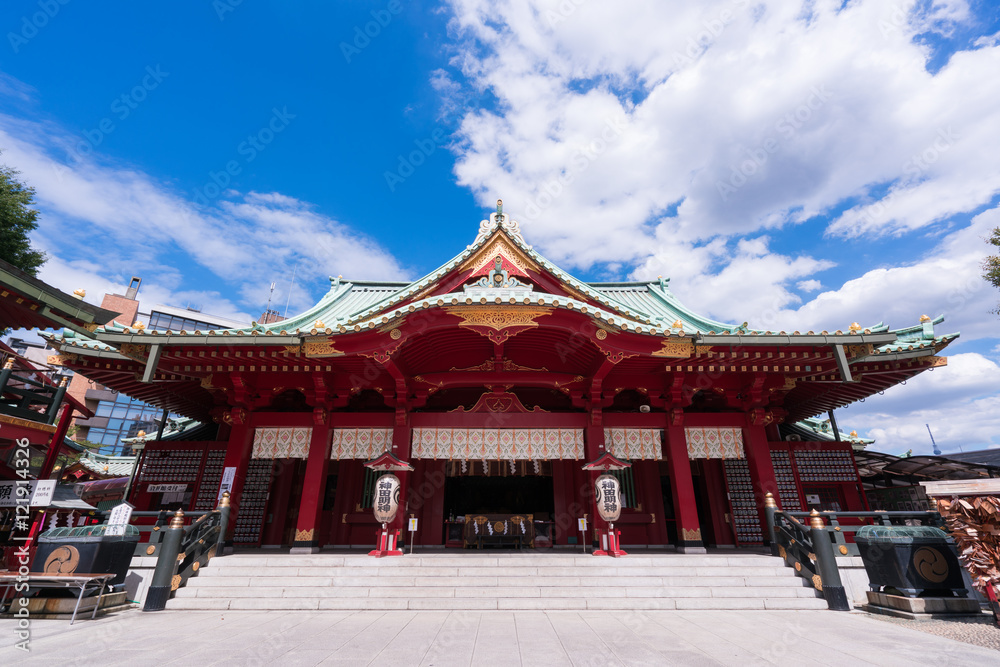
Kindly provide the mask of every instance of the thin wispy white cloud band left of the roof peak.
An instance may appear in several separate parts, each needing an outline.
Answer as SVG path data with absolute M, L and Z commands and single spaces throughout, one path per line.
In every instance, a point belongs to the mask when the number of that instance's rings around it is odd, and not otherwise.
M 276 294 L 287 296 L 293 272 L 292 308 L 299 310 L 328 288 L 317 276 L 405 275 L 377 243 L 305 202 L 229 191 L 214 205 L 198 207 L 135 168 L 98 155 L 78 163 L 56 157 L 72 141 L 51 125 L 0 116 L 0 159 L 17 165 L 22 180 L 36 188 L 41 215 L 34 238 L 51 257 L 41 276 L 56 287 L 83 287 L 99 303 L 100 295 L 120 290 L 135 272 L 143 278 L 144 301 L 197 303 L 205 312 L 249 321 L 263 311 L 272 280 Z M 87 259 L 63 259 L 68 257 Z M 192 260 L 197 272 L 211 272 L 234 288 L 239 302 L 192 289 Z

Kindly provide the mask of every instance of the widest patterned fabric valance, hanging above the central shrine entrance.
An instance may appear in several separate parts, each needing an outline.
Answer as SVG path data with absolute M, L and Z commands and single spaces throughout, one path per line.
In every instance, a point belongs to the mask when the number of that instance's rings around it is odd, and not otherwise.
M 415 428 L 415 459 L 582 459 L 583 429 Z

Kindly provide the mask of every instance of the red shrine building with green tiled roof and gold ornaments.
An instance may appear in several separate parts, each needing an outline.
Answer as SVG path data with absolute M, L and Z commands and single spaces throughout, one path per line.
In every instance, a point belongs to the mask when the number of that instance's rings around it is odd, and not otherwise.
M 584 467 L 613 460 L 621 543 L 696 552 L 760 544 L 767 492 L 788 510 L 866 509 L 849 443 L 781 425 L 945 365 L 957 334 L 941 321 L 714 322 L 665 279 L 574 278 L 498 206 L 412 283 L 332 279 L 310 310 L 243 329 L 112 323 L 51 342 L 87 378 L 219 424 L 214 441 L 147 443 L 132 501 L 211 509 L 230 489 L 237 546 L 371 547 L 380 473 L 365 464 L 388 453 L 412 467 L 390 528 L 417 519 L 417 545 L 467 546 L 476 516 L 491 534 L 527 520 L 534 548 L 590 543 L 607 526 L 601 471 Z

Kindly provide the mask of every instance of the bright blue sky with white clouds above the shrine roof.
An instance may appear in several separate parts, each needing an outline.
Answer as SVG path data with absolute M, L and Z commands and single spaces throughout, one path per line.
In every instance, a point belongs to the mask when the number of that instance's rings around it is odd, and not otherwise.
M 38 190 L 45 280 L 243 319 L 274 281 L 296 311 L 328 275 L 435 268 L 503 197 L 581 278 L 670 276 L 719 319 L 943 313 L 950 367 L 840 421 L 1000 445 L 995 4 L 178 4 L 0 8 L 0 161 Z

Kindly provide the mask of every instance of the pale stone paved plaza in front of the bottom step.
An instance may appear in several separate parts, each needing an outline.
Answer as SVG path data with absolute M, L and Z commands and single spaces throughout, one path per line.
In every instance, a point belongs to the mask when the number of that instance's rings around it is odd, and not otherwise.
M 208 612 L 36 620 L 31 652 L 69 665 L 991 665 L 1000 653 L 830 611 Z M 998 630 L 1000 632 L 1000 630 Z

